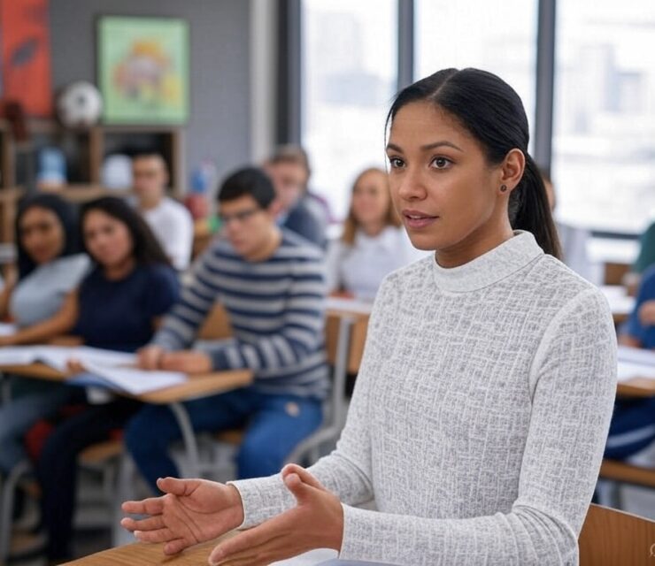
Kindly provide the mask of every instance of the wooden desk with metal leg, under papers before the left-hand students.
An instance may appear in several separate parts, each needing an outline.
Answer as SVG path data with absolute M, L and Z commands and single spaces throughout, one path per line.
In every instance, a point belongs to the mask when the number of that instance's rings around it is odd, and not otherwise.
M 46 379 L 61 382 L 68 378 L 65 373 L 57 371 L 43 363 L 0 365 L 0 374 L 13 374 L 31 379 Z M 215 371 L 208 374 L 196 375 L 179 386 L 166 387 L 165 389 L 158 389 L 157 391 L 150 391 L 141 395 L 117 393 L 146 403 L 166 404 L 171 408 L 177 423 L 180 425 L 182 442 L 189 460 L 189 475 L 197 477 L 199 475 L 199 455 L 196 433 L 193 430 L 193 426 L 191 426 L 189 413 L 184 407 L 183 402 L 249 386 L 251 382 L 252 371 L 250 370 Z

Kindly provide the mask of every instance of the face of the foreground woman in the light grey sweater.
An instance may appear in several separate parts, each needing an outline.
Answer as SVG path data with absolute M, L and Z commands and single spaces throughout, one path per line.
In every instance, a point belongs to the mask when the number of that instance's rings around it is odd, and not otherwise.
M 506 217 L 506 199 L 497 197 L 502 167 L 489 165 L 473 135 L 434 104 L 397 112 L 387 156 L 391 198 L 414 247 L 466 249 Z

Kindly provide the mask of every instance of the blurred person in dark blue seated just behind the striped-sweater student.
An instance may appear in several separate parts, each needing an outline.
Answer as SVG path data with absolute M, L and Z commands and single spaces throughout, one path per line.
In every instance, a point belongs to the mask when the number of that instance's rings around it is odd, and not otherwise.
M 321 249 L 327 244 L 329 220 L 327 204 L 307 189 L 310 177 L 309 159 L 304 149 L 285 145 L 277 149 L 264 166 L 275 187 L 279 207 L 279 226 L 300 234 Z

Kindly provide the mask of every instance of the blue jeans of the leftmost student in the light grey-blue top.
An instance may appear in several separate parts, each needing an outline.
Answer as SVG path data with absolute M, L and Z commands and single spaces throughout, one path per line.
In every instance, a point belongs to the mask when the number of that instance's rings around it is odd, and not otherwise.
M 9 473 L 27 457 L 23 437 L 36 421 L 52 417 L 83 394 L 80 387 L 53 383 L 48 391 L 25 394 L 0 407 L 0 473 Z

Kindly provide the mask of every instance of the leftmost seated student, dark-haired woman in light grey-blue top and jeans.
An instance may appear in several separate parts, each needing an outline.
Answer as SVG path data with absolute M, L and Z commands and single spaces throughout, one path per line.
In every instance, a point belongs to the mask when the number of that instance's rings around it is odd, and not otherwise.
M 0 336 L 0 347 L 58 335 L 58 311 L 89 270 L 76 213 L 57 195 L 36 195 L 20 203 L 15 230 L 18 280 L 0 294 L 0 317 L 10 317 L 18 332 Z M 12 402 L 0 407 L 0 476 L 26 457 L 22 437 L 28 428 L 55 413 L 74 391 L 46 381 L 12 379 Z

